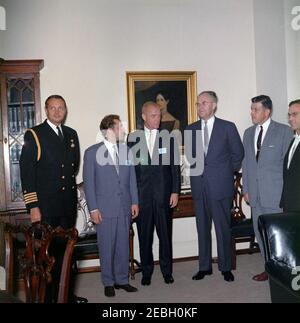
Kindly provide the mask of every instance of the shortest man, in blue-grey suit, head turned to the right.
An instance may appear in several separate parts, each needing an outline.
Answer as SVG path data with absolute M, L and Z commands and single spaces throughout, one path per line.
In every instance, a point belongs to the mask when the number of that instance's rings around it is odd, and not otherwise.
M 92 221 L 97 225 L 104 294 L 115 289 L 136 292 L 128 283 L 129 228 L 138 215 L 138 192 L 130 150 L 118 115 L 100 124 L 105 140 L 89 147 L 84 155 L 83 181 Z

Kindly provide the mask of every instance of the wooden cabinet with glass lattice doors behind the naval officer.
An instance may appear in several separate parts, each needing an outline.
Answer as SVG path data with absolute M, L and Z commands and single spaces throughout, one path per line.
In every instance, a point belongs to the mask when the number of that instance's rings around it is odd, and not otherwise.
M 43 66 L 43 60 L 0 59 L 0 211 L 24 209 L 19 158 L 26 129 L 41 122 Z

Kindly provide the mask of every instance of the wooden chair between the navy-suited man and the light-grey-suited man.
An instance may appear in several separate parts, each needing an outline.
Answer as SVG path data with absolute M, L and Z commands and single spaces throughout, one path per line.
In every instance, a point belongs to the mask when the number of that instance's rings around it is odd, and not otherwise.
M 242 174 L 234 175 L 235 195 L 231 209 L 231 245 L 232 245 L 232 269 L 236 269 L 236 256 L 240 254 L 259 252 L 258 244 L 255 242 L 252 218 L 247 218 L 243 212 L 243 186 Z M 249 242 L 249 248 L 237 250 L 236 244 Z

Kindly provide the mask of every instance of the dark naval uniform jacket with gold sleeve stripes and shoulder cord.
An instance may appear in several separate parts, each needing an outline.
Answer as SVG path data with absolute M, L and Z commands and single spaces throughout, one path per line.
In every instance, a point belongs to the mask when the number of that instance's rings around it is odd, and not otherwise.
M 21 182 L 28 210 L 39 207 L 42 221 L 50 225 L 53 218 L 67 218 L 71 227 L 77 212 L 79 142 L 75 130 L 64 125 L 61 128 L 63 141 L 47 120 L 26 131 L 20 157 Z

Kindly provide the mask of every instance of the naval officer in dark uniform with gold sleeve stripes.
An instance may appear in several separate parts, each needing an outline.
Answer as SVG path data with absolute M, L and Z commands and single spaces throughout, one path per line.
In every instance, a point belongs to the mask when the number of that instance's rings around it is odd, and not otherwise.
M 24 136 L 20 157 L 24 201 L 32 223 L 42 221 L 68 229 L 75 225 L 77 215 L 78 136 L 75 130 L 63 125 L 67 114 L 63 97 L 48 97 L 45 111 L 47 119 L 28 129 Z M 58 286 L 63 254 L 59 250 L 54 252 L 56 266 L 52 275 Z M 56 295 L 53 298 L 55 301 Z M 87 300 L 75 297 L 71 301 Z

